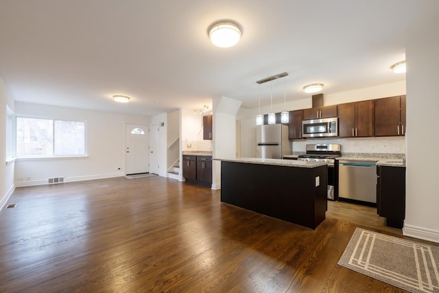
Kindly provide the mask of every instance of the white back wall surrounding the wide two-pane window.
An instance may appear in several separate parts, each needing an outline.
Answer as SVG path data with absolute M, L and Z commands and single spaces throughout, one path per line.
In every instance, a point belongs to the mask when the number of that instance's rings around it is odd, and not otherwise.
M 87 157 L 81 159 L 17 159 L 16 186 L 47 184 L 47 178 L 65 181 L 125 175 L 126 123 L 150 124 L 147 116 L 106 113 L 16 102 L 16 115 L 86 121 Z M 121 168 L 120 170 L 118 168 Z M 26 180 L 30 176 L 30 180 Z

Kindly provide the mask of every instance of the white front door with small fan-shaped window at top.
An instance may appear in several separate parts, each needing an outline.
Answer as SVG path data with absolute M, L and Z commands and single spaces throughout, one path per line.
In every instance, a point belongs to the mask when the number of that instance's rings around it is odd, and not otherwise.
M 126 124 L 126 174 L 150 172 L 149 126 Z

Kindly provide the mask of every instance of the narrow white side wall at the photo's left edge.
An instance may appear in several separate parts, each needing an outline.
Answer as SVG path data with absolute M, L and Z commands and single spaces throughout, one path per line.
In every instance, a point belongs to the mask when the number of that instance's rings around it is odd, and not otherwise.
M 6 88 L 3 79 L 0 77 L 0 158 L 6 161 L 6 141 L 10 137 L 6 137 L 6 106 L 14 110 L 14 102 Z M 0 164 L 0 210 L 14 191 L 14 168 L 15 163 L 11 162 L 6 165 Z

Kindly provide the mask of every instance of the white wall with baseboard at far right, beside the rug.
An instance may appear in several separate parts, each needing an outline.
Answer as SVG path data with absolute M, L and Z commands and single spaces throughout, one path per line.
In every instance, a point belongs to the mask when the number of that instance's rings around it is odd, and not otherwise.
M 426 5 L 423 1 L 416 3 Z M 406 47 L 407 194 L 403 233 L 439 242 L 439 19 L 434 15 L 439 11 L 439 1 L 427 3 L 431 14 L 423 15 L 423 23 L 409 30 Z

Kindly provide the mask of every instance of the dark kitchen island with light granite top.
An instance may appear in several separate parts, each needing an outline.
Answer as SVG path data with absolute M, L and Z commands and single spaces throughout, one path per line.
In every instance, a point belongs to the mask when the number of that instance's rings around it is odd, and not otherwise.
M 327 211 L 327 163 L 281 159 L 221 161 L 221 201 L 316 228 Z

